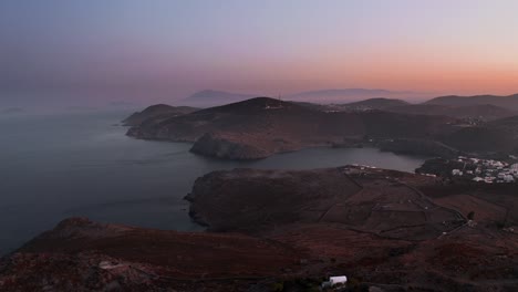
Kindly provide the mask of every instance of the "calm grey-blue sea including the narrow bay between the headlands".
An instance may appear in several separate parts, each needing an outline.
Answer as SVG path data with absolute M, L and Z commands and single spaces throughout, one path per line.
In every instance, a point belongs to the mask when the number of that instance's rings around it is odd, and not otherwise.
M 0 254 L 60 220 L 201 230 L 183 197 L 194 180 L 235 167 L 304 169 L 346 164 L 413 171 L 424 158 L 372 148 L 313 148 L 249 161 L 189 153 L 189 144 L 126 137 L 128 113 L 0 117 Z

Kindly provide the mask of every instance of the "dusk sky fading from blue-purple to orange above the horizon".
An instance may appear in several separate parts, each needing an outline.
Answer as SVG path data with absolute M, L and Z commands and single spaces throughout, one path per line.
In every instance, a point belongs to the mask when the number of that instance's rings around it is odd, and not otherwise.
M 0 104 L 518 93 L 515 0 L 1 0 Z

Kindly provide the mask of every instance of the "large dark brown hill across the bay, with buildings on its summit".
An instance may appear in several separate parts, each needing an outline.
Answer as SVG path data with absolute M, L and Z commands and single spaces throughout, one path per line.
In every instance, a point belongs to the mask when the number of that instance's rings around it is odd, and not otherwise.
M 194 142 L 193 152 L 230 159 L 265 158 L 304 147 L 374 137 L 433 137 L 455 118 L 384 112 L 322 112 L 256 97 L 167 119 L 148 119 L 127 135 Z

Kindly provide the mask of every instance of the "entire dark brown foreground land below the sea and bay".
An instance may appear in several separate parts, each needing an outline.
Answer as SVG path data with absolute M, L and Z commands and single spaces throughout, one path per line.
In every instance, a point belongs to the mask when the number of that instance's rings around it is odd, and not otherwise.
M 0 291 L 517 291 L 518 186 L 346 166 L 235 169 L 187 196 L 206 232 L 59 223 L 0 260 Z

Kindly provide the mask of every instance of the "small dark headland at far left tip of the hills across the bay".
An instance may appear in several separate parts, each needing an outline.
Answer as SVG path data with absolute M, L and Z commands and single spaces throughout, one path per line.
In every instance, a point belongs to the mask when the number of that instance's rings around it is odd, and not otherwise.
M 170 106 L 167 104 L 156 104 L 137 112 L 125 118 L 122 123 L 125 126 L 138 126 L 148 118 L 166 119 L 177 115 L 185 115 L 198 111 L 199 108 L 190 106 Z

